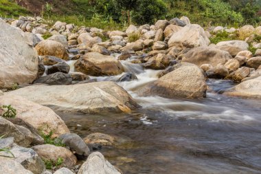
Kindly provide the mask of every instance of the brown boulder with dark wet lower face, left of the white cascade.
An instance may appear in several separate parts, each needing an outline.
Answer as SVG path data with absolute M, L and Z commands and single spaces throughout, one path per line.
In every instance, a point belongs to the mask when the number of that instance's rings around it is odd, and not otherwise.
M 84 54 L 74 66 L 78 72 L 91 76 L 110 76 L 124 72 L 120 61 L 113 56 L 104 56 L 98 52 Z

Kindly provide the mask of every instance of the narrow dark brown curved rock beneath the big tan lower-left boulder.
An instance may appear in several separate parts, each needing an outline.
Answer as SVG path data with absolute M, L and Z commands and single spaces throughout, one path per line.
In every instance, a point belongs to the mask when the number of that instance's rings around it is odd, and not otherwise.
M 10 122 L 12 122 L 15 125 L 19 125 L 21 127 L 28 129 L 28 131 L 30 131 L 30 133 L 32 133 L 32 143 L 31 144 L 38 145 L 38 144 L 44 143 L 44 140 L 41 137 L 41 135 L 38 133 L 37 129 L 35 129 L 28 122 L 23 121 L 21 118 L 7 118 L 7 120 L 9 120 Z

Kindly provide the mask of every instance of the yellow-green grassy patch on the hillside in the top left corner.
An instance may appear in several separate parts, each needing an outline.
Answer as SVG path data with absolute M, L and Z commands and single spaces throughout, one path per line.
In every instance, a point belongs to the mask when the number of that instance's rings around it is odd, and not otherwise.
M 0 0 L 0 16 L 2 17 L 19 17 L 26 16 L 30 12 L 17 5 L 13 0 Z

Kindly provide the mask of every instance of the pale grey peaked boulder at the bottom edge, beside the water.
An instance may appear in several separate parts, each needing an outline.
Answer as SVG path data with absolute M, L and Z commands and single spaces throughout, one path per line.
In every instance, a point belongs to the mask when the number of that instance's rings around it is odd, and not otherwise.
M 82 166 L 78 174 L 121 174 L 109 163 L 102 153 L 93 152 Z

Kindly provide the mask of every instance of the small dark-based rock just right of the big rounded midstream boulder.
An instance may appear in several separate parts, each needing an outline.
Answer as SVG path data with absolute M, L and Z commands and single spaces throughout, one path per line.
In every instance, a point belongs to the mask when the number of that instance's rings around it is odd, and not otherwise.
M 225 78 L 229 74 L 229 70 L 223 65 L 217 65 L 205 73 L 208 78 Z

